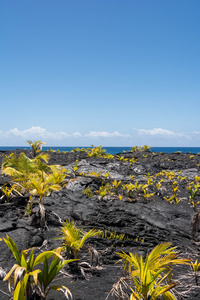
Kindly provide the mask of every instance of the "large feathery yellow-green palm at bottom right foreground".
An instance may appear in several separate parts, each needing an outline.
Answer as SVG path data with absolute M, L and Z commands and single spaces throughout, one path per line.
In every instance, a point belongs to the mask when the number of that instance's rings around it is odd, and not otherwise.
M 117 253 L 124 261 L 124 269 L 127 269 L 133 283 L 130 300 L 156 300 L 160 295 L 164 299 L 175 300 L 170 292 L 176 286 L 176 282 L 164 283 L 171 275 L 171 266 L 175 264 L 188 264 L 188 259 L 178 259 L 176 247 L 170 247 L 171 243 L 157 245 L 144 259 L 142 255 L 124 252 Z M 168 277 L 168 278 L 169 278 Z

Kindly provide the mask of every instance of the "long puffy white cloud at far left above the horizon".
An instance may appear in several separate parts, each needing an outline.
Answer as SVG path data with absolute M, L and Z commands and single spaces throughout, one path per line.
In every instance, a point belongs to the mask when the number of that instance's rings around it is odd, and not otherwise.
M 24 140 L 26 139 L 53 139 L 53 140 L 61 140 L 63 138 L 68 137 L 80 137 L 81 134 L 79 132 L 75 132 L 73 134 L 68 134 L 63 131 L 59 132 L 50 132 L 45 128 L 39 126 L 33 126 L 29 129 L 19 130 L 18 128 L 10 129 L 9 131 L 2 132 L 0 131 L 0 136 L 5 138 L 18 137 Z

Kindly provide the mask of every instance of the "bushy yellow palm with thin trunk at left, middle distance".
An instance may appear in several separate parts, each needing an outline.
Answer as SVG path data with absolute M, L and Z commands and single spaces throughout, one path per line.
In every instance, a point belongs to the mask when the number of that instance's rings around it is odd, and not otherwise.
M 39 154 L 34 159 L 24 153 L 19 156 L 12 153 L 2 164 L 2 172 L 12 176 L 13 182 L 21 193 L 39 196 L 41 221 L 44 225 L 45 209 L 42 198 L 51 191 L 58 191 L 63 186 L 67 170 L 59 165 L 47 165 L 48 154 Z

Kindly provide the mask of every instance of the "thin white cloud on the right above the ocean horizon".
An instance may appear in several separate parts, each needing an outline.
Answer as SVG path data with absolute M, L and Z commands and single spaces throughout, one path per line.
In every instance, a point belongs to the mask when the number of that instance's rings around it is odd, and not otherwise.
M 139 135 L 153 135 L 160 137 L 189 137 L 188 134 L 182 132 L 173 132 L 170 130 L 162 129 L 162 128 L 154 128 L 154 129 L 136 129 Z

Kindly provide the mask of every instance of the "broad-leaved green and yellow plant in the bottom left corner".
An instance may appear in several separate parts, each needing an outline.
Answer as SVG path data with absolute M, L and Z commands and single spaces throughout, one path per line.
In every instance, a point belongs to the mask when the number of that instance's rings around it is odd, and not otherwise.
M 13 300 L 25 300 L 30 299 L 36 290 L 41 299 L 46 299 L 46 296 L 50 290 L 64 290 L 64 294 L 70 294 L 70 291 L 65 286 L 54 285 L 50 286 L 53 279 L 63 268 L 64 265 L 68 264 L 74 260 L 64 260 L 60 255 L 61 247 L 53 251 L 45 251 L 34 257 L 34 248 L 23 250 L 20 254 L 16 244 L 7 236 L 6 239 L 3 238 L 6 245 L 11 250 L 16 264 L 11 268 L 11 270 L 4 277 L 4 281 L 8 281 L 8 287 L 11 291 L 11 275 L 14 272 L 14 296 Z M 28 257 L 28 252 L 30 255 Z M 48 261 L 52 258 L 51 265 L 49 267 Z M 42 271 L 40 269 L 35 269 L 36 266 L 43 263 Z M 38 285 L 40 283 L 40 286 Z

